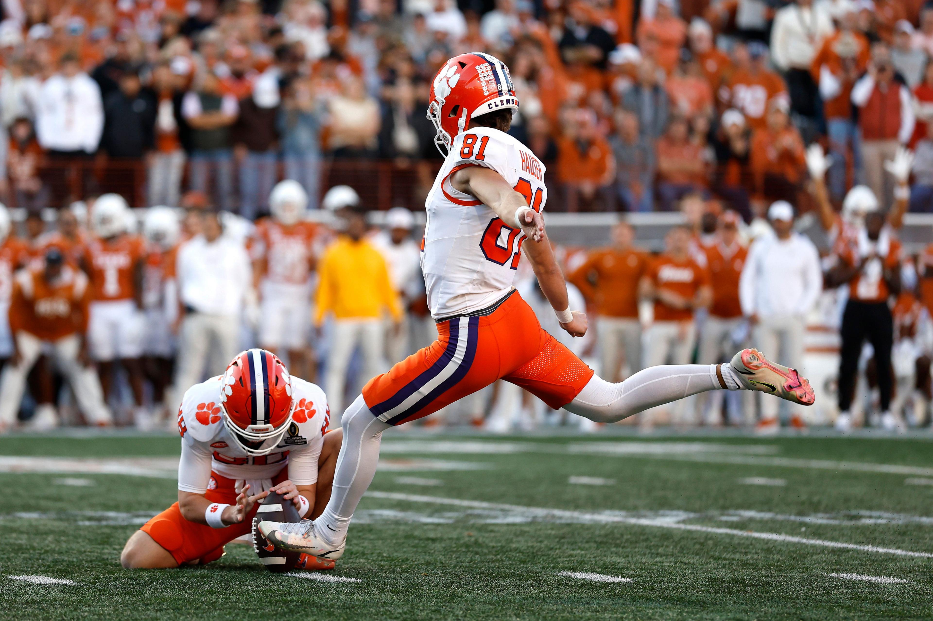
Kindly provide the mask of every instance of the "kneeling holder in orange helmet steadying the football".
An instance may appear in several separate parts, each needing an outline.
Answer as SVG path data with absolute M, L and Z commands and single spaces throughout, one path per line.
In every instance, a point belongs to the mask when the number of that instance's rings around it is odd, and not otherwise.
M 247 350 L 227 371 L 188 389 L 178 410 L 178 502 L 132 534 L 127 569 L 206 564 L 252 528 L 256 503 L 285 494 L 299 516 L 318 516 L 330 496 L 341 431 L 324 435 L 327 398 L 288 374 L 272 352 Z M 332 561 L 302 555 L 302 569 Z

